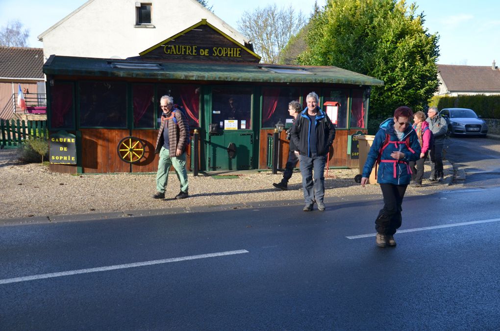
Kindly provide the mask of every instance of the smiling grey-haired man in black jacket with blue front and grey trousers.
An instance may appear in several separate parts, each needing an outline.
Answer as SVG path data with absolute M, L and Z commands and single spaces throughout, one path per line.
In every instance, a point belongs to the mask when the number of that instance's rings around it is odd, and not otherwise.
M 317 106 L 319 97 L 315 92 L 307 94 L 305 101 L 307 107 L 297 116 L 291 127 L 291 138 L 295 150 L 300 154 L 300 172 L 305 200 L 302 210 L 312 210 L 316 202 L 318 210 L 323 211 L 325 209 L 323 203 L 324 165 L 326 155 L 335 138 L 335 127 L 326 113 Z

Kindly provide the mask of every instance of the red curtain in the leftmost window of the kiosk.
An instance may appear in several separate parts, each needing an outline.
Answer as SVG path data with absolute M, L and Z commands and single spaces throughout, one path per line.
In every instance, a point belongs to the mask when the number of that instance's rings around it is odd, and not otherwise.
M 52 127 L 72 126 L 72 123 L 65 124 L 65 116 L 73 107 L 73 84 L 57 83 L 51 91 L 51 121 Z

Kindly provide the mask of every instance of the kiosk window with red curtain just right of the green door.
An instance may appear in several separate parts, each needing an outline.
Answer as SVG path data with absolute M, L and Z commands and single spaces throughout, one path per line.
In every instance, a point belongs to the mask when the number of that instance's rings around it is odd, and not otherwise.
M 278 121 L 290 126 L 292 117 L 288 112 L 288 103 L 299 99 L 298 87 L 263 87 L 261 127 L 274 128 Z

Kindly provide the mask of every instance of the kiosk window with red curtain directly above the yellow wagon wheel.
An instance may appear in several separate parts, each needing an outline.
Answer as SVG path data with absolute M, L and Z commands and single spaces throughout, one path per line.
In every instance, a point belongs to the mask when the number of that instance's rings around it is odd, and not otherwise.
M 134 128 L 154 128 L 154 85 L 132 85 Z

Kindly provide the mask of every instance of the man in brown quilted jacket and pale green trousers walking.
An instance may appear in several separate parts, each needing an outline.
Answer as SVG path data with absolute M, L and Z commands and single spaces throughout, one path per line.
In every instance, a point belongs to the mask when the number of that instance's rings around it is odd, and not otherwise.
M 156 138 L 154 151 L 159 153 L 158 170 L 156 171 L 156 194 L 155 199 L 165 198 L 165 186 L 168 180 L 168 170 L 173 165 L 175 173 L 180 181 L 180 192 L 176 199 L 189 196 L 186 171 L 186 147 L 189 135 L 189 124 L 187 118 L 179 109 L 173 105 L 170 95 L 160 98 L 161 125 Z

